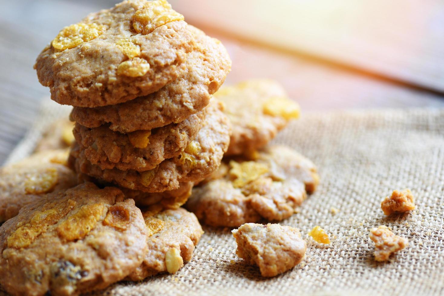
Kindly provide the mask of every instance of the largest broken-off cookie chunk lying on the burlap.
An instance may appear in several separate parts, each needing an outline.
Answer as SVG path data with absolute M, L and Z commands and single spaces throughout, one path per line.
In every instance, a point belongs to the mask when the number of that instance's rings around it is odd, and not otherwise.
M 238 244 L 236 254 L 258 265 L 262 277 L 275 277 L 298 265 L 305 256 L 305 241 L 294 227 L 246 223 L 232 233 Z

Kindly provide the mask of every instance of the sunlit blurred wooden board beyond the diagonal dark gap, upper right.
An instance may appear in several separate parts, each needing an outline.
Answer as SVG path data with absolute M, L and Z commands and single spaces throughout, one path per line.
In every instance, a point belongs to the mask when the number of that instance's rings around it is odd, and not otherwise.
M 171 0 L 203 27 L 444 93 L 440 0 Z

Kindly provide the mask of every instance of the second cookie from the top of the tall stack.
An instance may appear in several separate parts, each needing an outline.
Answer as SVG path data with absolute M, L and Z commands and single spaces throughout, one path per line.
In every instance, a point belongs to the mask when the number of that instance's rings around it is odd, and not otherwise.
M 195 39 L 194 50 L 187 55 L 185 74 L 159 91 L 126 103 L 98 108 L 72 110 L 71 118 L 94 128 L 109 123 L 118 132 L 155 129 L 185 120 L 204 108 L 230 71 L 231 61 L 217 39 L 188 26 Z

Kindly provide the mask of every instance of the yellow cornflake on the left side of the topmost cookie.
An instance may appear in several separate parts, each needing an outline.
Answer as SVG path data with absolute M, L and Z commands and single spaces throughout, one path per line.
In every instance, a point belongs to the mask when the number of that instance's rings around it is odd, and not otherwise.
M 75 23 L 64 27 L 52 40 L 52 46 L 64 51 L 102 35 L 107 27 L 96 23 Z

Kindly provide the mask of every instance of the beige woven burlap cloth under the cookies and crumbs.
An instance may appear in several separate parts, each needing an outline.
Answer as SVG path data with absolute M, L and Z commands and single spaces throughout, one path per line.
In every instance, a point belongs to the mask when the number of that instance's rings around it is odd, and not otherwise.
M 32 151 L 44 116 L 10 157 Z M 60 109 L 57 109 L 60 110 Z M 67 109 L 63 109 L 66 114 Z M 62 111 L 60 111 L 62 112 Z M 106 295 L 442 295 L 444 294 L 444 110 L 304 113 L 275 140 L 297 149 L 319 169 L 321 184 L 300 212 L 281 222 L 307 238 L 304 261 L 271 279 L 235 255 L 229 229 L 204 227 L 193 260 L 174 275 L 121 282 Z M 412 213 L 386 217 L 381 200 L 410 188 Z M 331 207 L 339 209 L 333 215 Z M 332 239 L 307 237 L 320 225 Z M 386 225 L 409 245 L 387 263 L 373 260 L 369 229 Z

